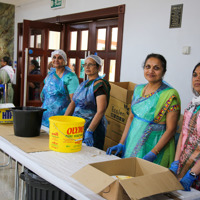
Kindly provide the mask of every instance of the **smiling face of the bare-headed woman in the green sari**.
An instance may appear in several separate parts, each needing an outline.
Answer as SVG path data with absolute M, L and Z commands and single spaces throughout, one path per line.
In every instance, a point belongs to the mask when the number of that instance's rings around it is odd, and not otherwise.
M 164 76 L 162 63 L 158 58 L 149 58 L 144 65 L 144 77 L 149 83 L 160 82 Z

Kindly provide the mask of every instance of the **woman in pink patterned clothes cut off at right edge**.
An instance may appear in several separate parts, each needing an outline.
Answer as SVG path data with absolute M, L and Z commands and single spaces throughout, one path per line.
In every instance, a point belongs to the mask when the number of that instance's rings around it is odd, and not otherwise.
M 194 97 L 185 109 L 175 161 L 169 168 L 186 191 L 191 186 L 200 190 L 200 63 L 192 73 L 192 88 Z

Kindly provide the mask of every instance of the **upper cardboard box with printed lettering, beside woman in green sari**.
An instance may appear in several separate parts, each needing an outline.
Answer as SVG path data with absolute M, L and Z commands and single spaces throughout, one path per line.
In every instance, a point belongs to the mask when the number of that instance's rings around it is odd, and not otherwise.
M 125 125 L 136 84 L 131 82 L 110 82 L 110 85 L 110 102 L 105 115 Z

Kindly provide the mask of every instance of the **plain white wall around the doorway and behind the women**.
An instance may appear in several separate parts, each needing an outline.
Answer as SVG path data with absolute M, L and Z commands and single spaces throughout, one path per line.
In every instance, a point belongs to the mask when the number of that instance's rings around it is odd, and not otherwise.
M 65 8 L 57 10 L 50 9 L 50 0 L 38 0 L 16 7 L 15 22 L 17 27 L 23 19 L 43 19 L 121 4 L 126 4 L 121 81 L 144 83 L 142 64 L 146 55 L 164 55 L 168 63 L 165 81 L 178 90 L 183 113 L 192 98 L 191 73 L 200 62 L 199 0 L 66 0 Z M 176 4 L 183 4 L 182 27 L 170 29 L 171 5 Z M 16 40 L 15 34 L 15 50 Z M 182 54 L 183 46 L 191 47 L 190 55 Z

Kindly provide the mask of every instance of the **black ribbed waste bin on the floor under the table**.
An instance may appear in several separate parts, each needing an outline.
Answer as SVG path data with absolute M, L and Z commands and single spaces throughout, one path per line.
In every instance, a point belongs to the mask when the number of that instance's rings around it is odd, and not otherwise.
M 20 174 L 20 178 L 26 184 L 26 200 L 75 200 L 28 169 Z

